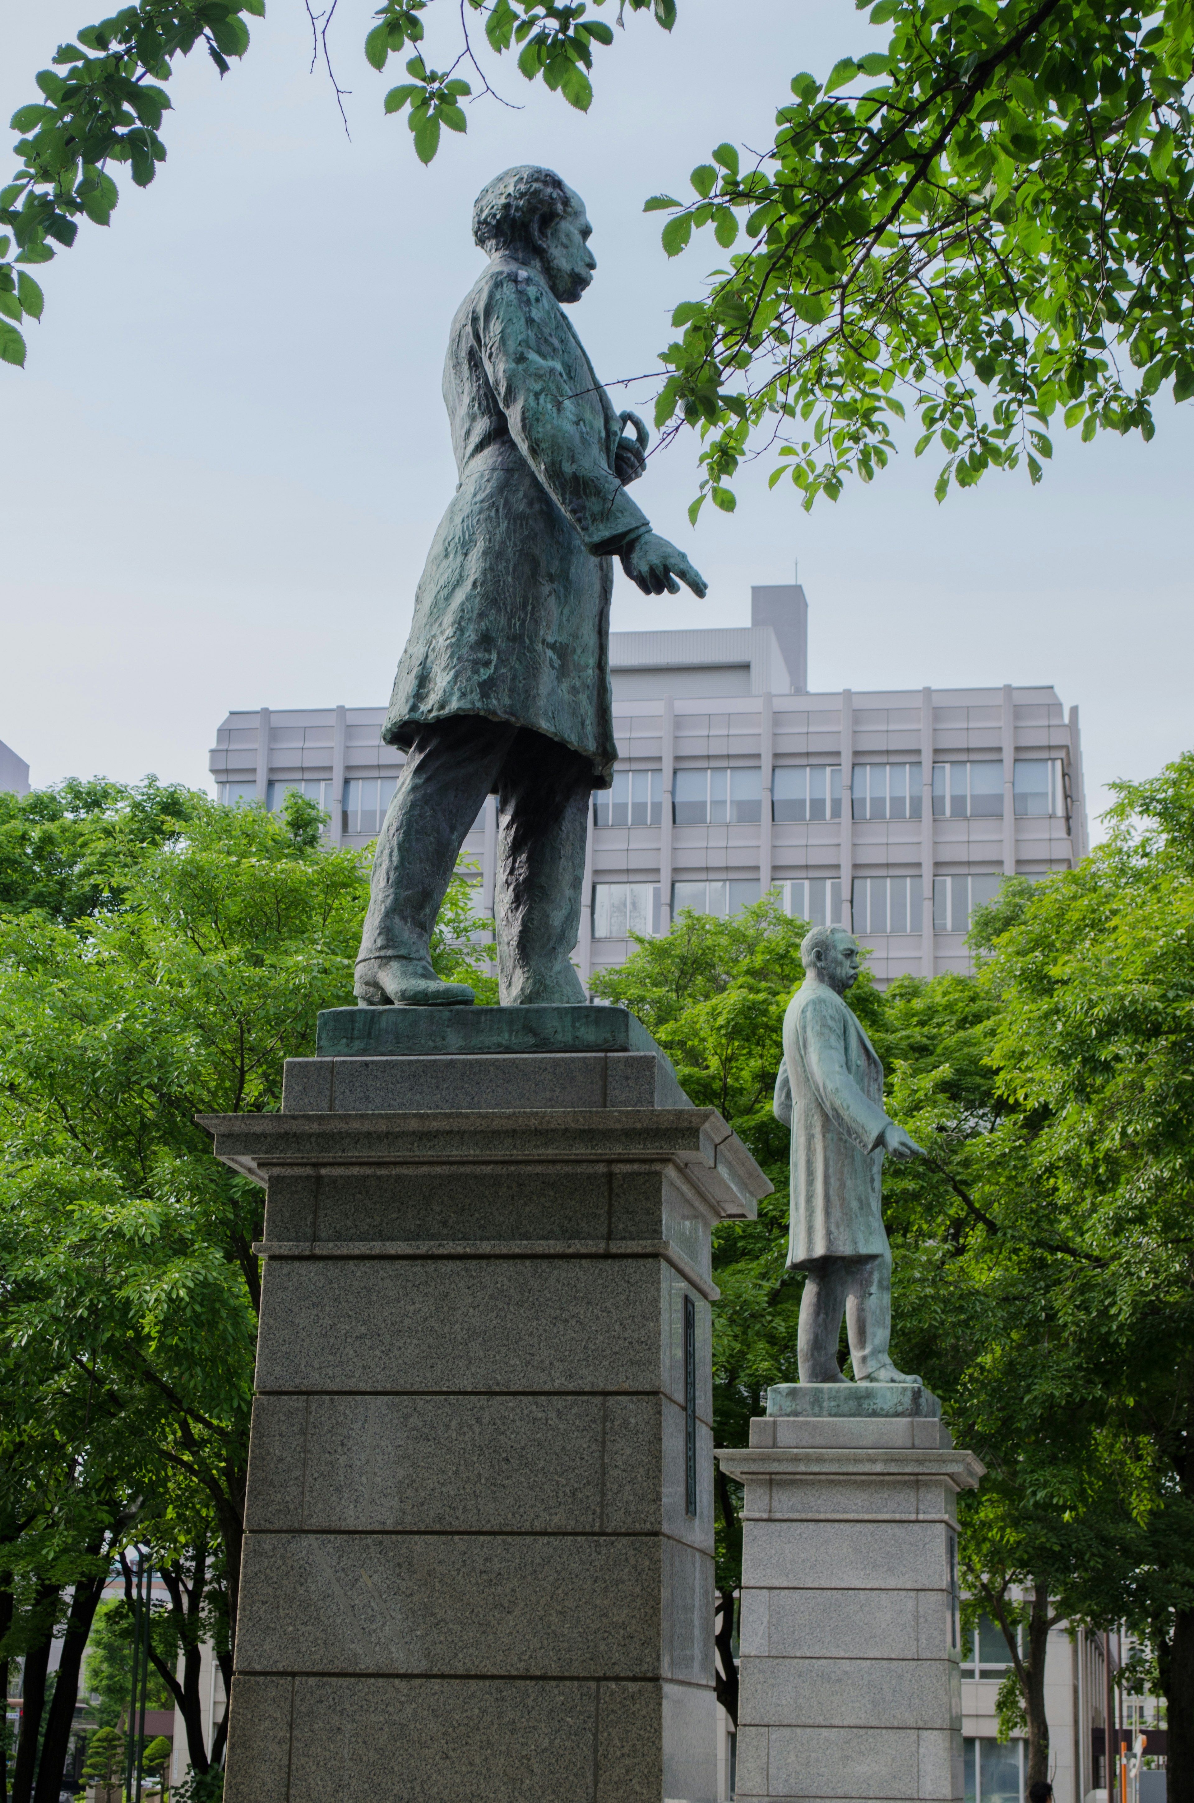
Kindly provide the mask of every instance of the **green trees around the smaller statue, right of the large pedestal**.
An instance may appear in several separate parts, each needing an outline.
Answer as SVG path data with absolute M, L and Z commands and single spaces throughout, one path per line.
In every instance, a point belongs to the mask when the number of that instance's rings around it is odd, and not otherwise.
M 1194 1796 L 1194 755 L 1122 784 L 1077 869 L 1015 878 L 972 923 L 978 974 L 864 977 L 850 1002 L 887 1107 L 927 1147 L 889 1165 L 893 1356 L 987 1464 L 960 1498 L 967 1621 L 1012 1661 L 1005 1733 L 1048 1776 L 1046 1635 L 1125 1623 L 1156 1657 L 1169 1794 Z M 776 1185 L 716 1235 L 714 1421 L 745 1444 L 795 1379 L 803 1278 L 786 1269 L 786 1145 L 767 1107 L 803 925 L 765 898 L 682 914 L 597 988 L 638 1013 L 698 1103 L 723 1109 Z M 842 1345 L 842 1358 L 848 1349 Z M 734 1707 L 741 1570 L 718 1491 L 720 1689 Z

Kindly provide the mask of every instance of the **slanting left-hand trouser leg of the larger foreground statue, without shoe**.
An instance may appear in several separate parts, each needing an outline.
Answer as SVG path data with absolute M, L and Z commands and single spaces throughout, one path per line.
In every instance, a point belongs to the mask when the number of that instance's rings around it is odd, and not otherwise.
M 518 727 L 478 714 L 418 727 L 377 835 L 357 966 L 402 957 L 431 972 L 435 916 L 516 736 Z

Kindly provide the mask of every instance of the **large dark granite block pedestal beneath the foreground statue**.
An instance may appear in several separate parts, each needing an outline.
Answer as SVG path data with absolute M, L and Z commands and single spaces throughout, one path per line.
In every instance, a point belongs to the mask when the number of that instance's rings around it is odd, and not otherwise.
M 622 1010 L 317 1046 L 206 1120 L 269 1190 L 225 1803 L 714 1803 L 709 1235 L 767 1179 Z

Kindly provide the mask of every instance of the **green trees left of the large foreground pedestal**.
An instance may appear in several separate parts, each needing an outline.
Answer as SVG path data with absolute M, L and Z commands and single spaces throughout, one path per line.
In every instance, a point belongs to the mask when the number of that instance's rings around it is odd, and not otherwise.
M 222 1729 L 204 1747 L 200 1644 L 227 1682 L 262 1192 L 211 1158 L 195 1116 L 278 1109 L 319 1008 L 352 1002 L 368 856 L 328 849 L 321 828 L 298 793 L 281 815 L 152 779 L 0 795 L 0 1677 L 23 1659 L 22 1738 L 0 1747 L 11 1803 L 58 1803 L 88 1637 L 101 1725 L 119 1727 L 132 1543 L 170 1596 L 153 1686 L 182 1713 L 195 1774 L 222 1760 Z M 478 963 L 474 927 L 462 871 L 433 948 L 444 974 Z M 124 1599 L 97 1621 L 114 1569 Z

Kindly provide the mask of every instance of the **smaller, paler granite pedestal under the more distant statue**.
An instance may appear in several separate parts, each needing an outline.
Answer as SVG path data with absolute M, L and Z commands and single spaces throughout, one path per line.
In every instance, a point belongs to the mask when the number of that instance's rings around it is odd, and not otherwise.
M 938 1399 L 907 1385 L 768 1392 L 745 1486 L 738 1803 L 960 1803 L 960 1489 Z

